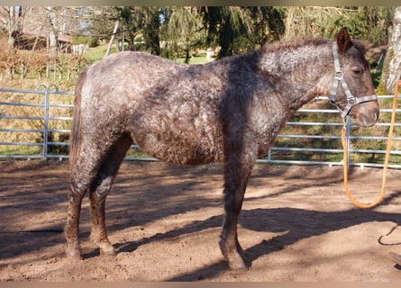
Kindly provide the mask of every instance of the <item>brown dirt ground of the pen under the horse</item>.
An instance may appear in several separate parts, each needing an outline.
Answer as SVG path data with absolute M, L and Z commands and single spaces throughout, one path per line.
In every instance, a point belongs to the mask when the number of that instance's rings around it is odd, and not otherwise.
M 395 281 L 401 267 L 401 171 L 389 170 L 384 202 L 354 208 L 340 166 L 267 166 L 253 170 L 239 225 L 247 271 L 223 262 L 222 166 L 123 163 L 107 198 L 109 238 L 118 254 L 64 257 L 68 163 L 0 162 L 0 281 Z M 382 170 L 355 168 L 351 191 L 371 202 Z

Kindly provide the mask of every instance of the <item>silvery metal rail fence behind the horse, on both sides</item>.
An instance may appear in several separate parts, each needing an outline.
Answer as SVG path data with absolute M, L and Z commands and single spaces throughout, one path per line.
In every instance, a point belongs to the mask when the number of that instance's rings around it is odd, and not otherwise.
M 56 85 L 38 86 L 36 90 L 0 89 L 0 158 L 68 158 L 68 138 L 73 111 L 72 92 L 59 91 Z M 391 99 L 392 95 L 378 96 L 379 102 Z M 327 97 L 319 97 L 318 101 L 327 103 Z M 401 110 L 397 109 L 396 112 Z M 391 109 L 380 109 L 380 114 L 390 113 Z M 342 119 L 336 109 L 302 108 L 296 112 L 302 115 L 332 115 L 337 117 L 323 117 L 328 121 L 288 121 L 285 129 L 278 135 L 273 147 L 268 154 L 258 160 L 259 163 L 278 163 L 296 165 L 342 165 L 341 130 Z M 322 118 L 322 117 L 321 117 Z M 330 120 L 332 119 L 332 120 Z M 335 121 L 333 121 L 335 119 Z M 355 123 L 351 123 L 355 126 Z M 396 127 L 401 123 L 396 122 Z M 389 123 L 380 121 L 375 126 L 386 130 Z M 294 132 L 299 129 L 300 132 Z M 316 131 L 326 130 L 324 133 Z M 328 132 L 327 132 L 328 131 Z M 370 155 L 371 158 L 384 156 L 387 136 L 380 135 L 350 136 L 352 141 L 370 141 L 372 147 L 380 148 L 358 148 L 352 147 L 352 155 Z M 401 152 L 397 150 L 401 138 L 393 137 L 393 148 L 390 155 L 396 157 L 395 163 L 389 165 L 391 168 L 401 168 L 397 164 L 397 157 Z M 308 144 L 305 145 L 305 141 Z M 317 147 L 317 143 L 333 144 L 331 147 Z M 314 143 L 316 147 L 314 147 Z M 377 145 L 381 143 L 380 145 Z M 132 145 L 132 150 L 138 150 Z M 289 157 L 287 155 L 290 155 Z M 322 159 L 327 156 L 329 159 Z M 316 157 L 319 156 L 319 157 Z M 127 160 L 154 161 L 152 157 L 129 153 Z M 400 157 L 401 159 L 401 157 Z M 394 161 L 393 161 L 394 162 Z M 383 166 L 378 161 L 352 161 L 351 166 Z

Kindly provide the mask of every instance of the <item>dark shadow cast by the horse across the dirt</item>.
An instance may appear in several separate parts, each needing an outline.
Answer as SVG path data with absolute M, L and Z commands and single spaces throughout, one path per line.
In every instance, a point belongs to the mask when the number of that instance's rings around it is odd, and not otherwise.
M 399 196 L 401 195 L 401 192 L 397 194 Z M 392 196 L 396 197 L 396 195 Z M 288 215 L 290 215 L 293 220 L 288 220 Z M 117 253 L 131 253 L 141 245 L 145 245 L 155 240 L 177 238 L 182 235 L 200 232 L 205 229 L 219 228 L 221 227 L 222 220 L 223 215 L 216 215 L 206 220 L 194 221 L 180 229 L 172 229 L 166 233 L 155 234 L 150 238 L 116 243 L 114 244 L 114 247 L 116 248 Z M 371 221 L 392 221 L 397 225 L 400 225 L 401 214 L 374 210 L 360 210 L 357 208 L 352 208 L 348 211 L 314 211 L 283 207 L 244 210 L 242 211 L 239 224 L 243 229 L 280 233 L 278 236 L 263 239 L 260 243 L 249 247 L 244 251 L 247 262 L 251 266 L 251 263 L 256 259 L 283 250 L 287 246 L 295 244 L 301 239 L 323 235 L 335 230 L 347 229 Z M 311 227 L 311 225 L 313 227 Z M 240 238 L 241 237 L 246 237 L 246 235 L 240 235 Z M 216 238 L 216 242 L 217 241 L 218 239 Z M 378 242 L 380 243 L 379 238 Z M 98 254 L 99 252 L 97 249 L 96 252 L 92 251 L 84 257 L 95 257 Z M 395 268 L 400 269 L 401 267 L 395 266 Z M 222 257 L 222 261 L 220 262 L 197 269 L 196 271 L 186 275 L 178 275 L 177 277 L 169 279 L 169 281 L 198 281 L 202 279 L 210 279 L 226 272 L 227 269 L 228 266 L 223 261 Z

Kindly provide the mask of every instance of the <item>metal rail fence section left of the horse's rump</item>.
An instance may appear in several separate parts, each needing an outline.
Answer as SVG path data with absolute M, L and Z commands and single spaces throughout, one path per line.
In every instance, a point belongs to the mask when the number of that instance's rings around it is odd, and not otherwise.
M 68 146 L 68 142 L 56 142 L 52 138 L 54 133 L 70 132 L 71 116 L 51 114 L 55 109 L 62 109 L 70 110 L 72 115 L 72 102 L 60 103 L 57 98 L 61 95 L 73 99 L 74 94 L 59 91 L 56 85 L 40 85 L 34 91 L 0 89 L 0 158 L 68 157 L 67 152 L 51 153 L 56 146 Z M 57 125 L 56 121 L 67 121 L 67 125 Z M 60 129 L 62 126 L 68 128 Z

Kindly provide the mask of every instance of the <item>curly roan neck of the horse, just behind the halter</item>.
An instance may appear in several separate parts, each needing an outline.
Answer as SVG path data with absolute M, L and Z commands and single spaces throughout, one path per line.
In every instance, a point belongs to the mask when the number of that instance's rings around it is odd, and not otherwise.
M 333 84 L 331 42 L 313 42 L 276 49 L 262 56 L 260 64 L 285 88 L 288 105 L 300 108 L 317 95 L 328 94 Z

